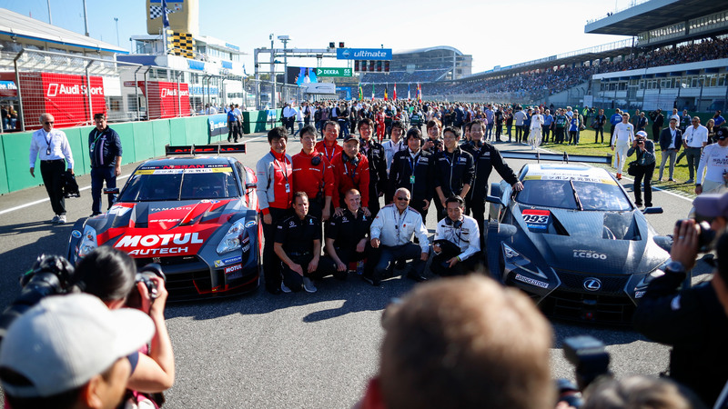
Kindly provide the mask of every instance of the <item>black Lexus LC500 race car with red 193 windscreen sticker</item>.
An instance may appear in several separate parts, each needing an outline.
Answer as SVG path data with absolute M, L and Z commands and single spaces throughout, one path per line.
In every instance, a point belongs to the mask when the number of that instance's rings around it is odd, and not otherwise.
M 672 239 L 655 233 L 605 169 L 529 164 L 519 179 L 518 193 L 505 182 L 492 184 L 490 273 L 551 316 L 628 323 L 668 260 Z

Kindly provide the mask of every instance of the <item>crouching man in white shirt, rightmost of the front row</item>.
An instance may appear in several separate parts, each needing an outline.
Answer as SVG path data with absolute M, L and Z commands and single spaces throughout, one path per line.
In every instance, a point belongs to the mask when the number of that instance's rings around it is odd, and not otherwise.
M 474 271 L 480 264 L 480 230 L 478 222 L 463 214 L 465 201 L 450 196 L 445 201 L 448 216 L 435 230 L 430 270 L 441 276 L 461 275 Z

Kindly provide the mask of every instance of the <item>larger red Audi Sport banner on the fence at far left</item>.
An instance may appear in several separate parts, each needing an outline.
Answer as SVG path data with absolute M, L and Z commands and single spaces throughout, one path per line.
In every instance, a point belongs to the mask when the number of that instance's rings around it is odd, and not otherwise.
M 54 73 L 20 73 L 19 77 L 25 129 L 40 128 L 38 118 L 43 113 L 55 117 L 56 127 L 67 127 L 91 124 L 94 114 L 106 112 L 104 81 L 100 76 L 91 76 L 88 81 L 86 75 Z M 15 85 L 15 73 L 0 73 L 0 81 L 12 81 Z

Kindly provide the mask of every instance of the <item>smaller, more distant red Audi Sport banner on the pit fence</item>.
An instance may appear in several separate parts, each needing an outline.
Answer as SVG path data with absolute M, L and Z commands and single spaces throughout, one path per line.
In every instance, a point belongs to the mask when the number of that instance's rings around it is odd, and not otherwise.
M 189 116 L 189 86 L 187 84 L 138 81 L 136 85 L 147 95 L 149 119 Z

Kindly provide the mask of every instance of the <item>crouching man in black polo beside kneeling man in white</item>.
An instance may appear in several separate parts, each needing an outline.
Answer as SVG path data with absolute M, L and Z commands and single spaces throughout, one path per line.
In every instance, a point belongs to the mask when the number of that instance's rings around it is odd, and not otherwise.
M 326 233 L 326 253 L 320 262 L 319 270 L 331 271 L 336 278 L 346 279 L 349 262 L 364 260 L 372 254 L 369 244 L 369 227 L 372 216 L 364 214 L 361 208 L 361 195 L 351 189 L 344 197 L 346 209 L 334 216 Z M 370 272 L 374 266 L 368 260 L 365 270 Z M 370 274 L 369 274 L 370 275 Z

